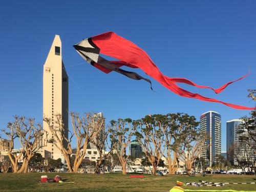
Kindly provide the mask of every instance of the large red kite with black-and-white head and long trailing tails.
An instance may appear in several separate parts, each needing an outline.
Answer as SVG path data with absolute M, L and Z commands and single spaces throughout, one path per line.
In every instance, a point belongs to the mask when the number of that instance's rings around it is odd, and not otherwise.
M 197 88 L 211 89 L 216 94 L 218 94 L 221 93 L 229 84 L 245 78 L 246 76 L 248 76 L 248 74 L 239 79 L 230 81 L 218 89 L 207 86 L 200 86 L 185 78 L 170 78 L 160 72 L 158 67 L 144 50 L 140 49 L 130 40 L 127 40 L 114 32 L 106 32 L 88 39 L 84 39 L 78 44 L 74 45 L 74 48 L 87 62 L 91 63 L 92 66 L 98 68 L 104 73 L 110 73 L 111 71 L 115 71 L 135 80 L 143 79 L 151 84 L 150 79 L 146 79 L 137 73 L 120 69 L 120 67 L 122 66 L 130 68 L 140 68 L 147 75 L 160 82 L 162 86 L 180 96 L 200 99 L 208 102 L 222 103 L 234 109 L 256 109 L 204 97 L 197 93 L 188 92 L 177 85 L 177 83 L 185 83 L 189 84 L 190 86 L 195 86 Z M 109 61 L 101 57 L 100 54 L 108 55 L 119 60 Z

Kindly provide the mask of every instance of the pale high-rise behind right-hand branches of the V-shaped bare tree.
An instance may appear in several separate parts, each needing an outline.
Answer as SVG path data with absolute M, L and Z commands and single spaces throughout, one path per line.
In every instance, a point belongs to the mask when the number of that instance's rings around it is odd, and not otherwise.
M 104 136 L 105 136 L 105 118 L 103 117 L 103 113 L 98 113 L 98 114 L 94 114 L 94 121 L 97 122 L 97 123 L 102 123 L 102 128 L 101 130 L 99 131 L 99 144 L 101 144 L 102 142 L 104 142 Z M 91 124 L 91 130 L 93 129 L 93 124 Z M 95 136 L 93 138 L 93 141 L 96 142 L 96 137 Z M 88 146 L 88 149 L 91 149 L 91 150 L 97 150 L 97 147 L 96 145 L 94 144 L 94 142 L 90 142 L 89 143 L 89 146 Z M 102 149 L 104 150 L 104 149 Z

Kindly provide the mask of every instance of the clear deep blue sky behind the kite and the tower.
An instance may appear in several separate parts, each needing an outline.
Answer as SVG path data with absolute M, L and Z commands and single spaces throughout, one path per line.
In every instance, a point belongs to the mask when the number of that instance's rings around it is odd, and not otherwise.
M 226 121 L 248 115 L 219 103 L 180 97 L 153 83 L 93 68 L 72 47 L 83 38 L 114 31 L 144 49 L 164 75 L 184 77 L 218 88 L 251 74 L 224 92 L 181 85 L 188 91 L 229 103 L 254 106 L 247 89 L 256 89 L 255 1 L 1 1 L 0 127 L 13 115 L 42 121 L 43 65 L 55 34 L 62 41 L 69 74 L 69 109 L 103 112 L 111 119 L 184 112 L 222 116 L 222 150 Z M 77 65 L 84 63 L 83 65 Z M 75 65 L 75 66 L 73 66 Z M 73 66 L 73 67 L 70 67 Z

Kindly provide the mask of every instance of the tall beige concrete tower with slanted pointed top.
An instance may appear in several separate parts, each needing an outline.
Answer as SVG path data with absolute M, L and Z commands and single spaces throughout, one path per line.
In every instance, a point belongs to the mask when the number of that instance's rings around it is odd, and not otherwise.
M 44 65 L 43 115 L 53 120 L 56 114 L 61 114 L 65 135 L 68 137 L 69 80 L 61 55 L 61 40 L 59 35 L 55 35 Z M 43 127 L 49 133 L 48 139 L 53 138 L 46 122 L 43 123 Z M 53 143 L 48 143 L 43 151 L 42 156 L 45 158 L 62 158 L 61 151 Z

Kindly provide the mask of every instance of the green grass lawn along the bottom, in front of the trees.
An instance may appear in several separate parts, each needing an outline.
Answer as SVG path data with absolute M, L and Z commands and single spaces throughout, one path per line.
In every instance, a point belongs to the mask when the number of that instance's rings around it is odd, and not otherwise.
M 59 175 L 66 182 L 75 183 L 41 183 L 41 175 L 53 178 Z M 169 191 L 175 186 L 176 180 L 181 182 L 255 182 L 256 176 L 242 175 L 207 175 L 202 176 L 151 176 L 145 178 L 129 178 L 122 174 L 71 174 L 71 173 L 28 173 L 28 174 L 0 174 L 0 191 Z M 254 190 L 256 184 L 226 184 L 225 186 L 184 186 L 188 189 L 234 189 Z

